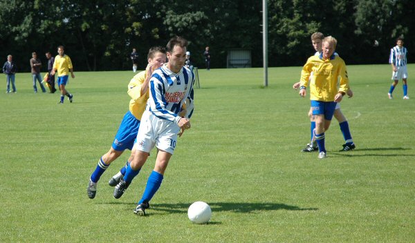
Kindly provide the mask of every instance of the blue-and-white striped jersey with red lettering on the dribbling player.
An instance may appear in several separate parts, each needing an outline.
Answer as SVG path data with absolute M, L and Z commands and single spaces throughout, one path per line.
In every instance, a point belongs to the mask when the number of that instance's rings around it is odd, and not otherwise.
M 192 117 L 194 109 L 194 74 L 188 68 L 183 67 L 180 72 L 174 73 L 166 66 L 154 70 L 151 75 L 146 110 L 149 110 L 159 119 L 178 123 L 181 117 L 178 113 L 185 104 L 185 118 Z

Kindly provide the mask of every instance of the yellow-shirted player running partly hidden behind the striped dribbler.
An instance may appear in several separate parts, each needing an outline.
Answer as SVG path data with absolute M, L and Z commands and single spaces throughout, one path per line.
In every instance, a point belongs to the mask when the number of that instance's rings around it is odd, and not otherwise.
M 129 111 L 124 115 L 120 128 L 116 134 L 109 151 L 102 155 L 98 161 L 95 171 L 91 174 L 87 188 L 88 197 L 93 199 L 97 191 L 97 183 L 101 175 L 107 170 L 111 162 L 116 160 L 125 149 L 131 150 L 128 162 L 131 162 L 135 153 L 134 142 L 137 137 L 140 119 L 145 110 L 147 99 L 149 99 L 149 80 L 151 73 L 160 68 L 166 62 L 166 50 L 164 47 L 156 46 L 150 48 L 147 55 L 148 65 L 145 71 L 139 72 L 128 84 L 128 95 L 131 97 Z M 127 165 L 128 165 L 127 162 Z M 125 167 L 122 168 L 122 171 Z M 122 171 L 111 178 L 109 184 L 116 186 L 122 177 Z

